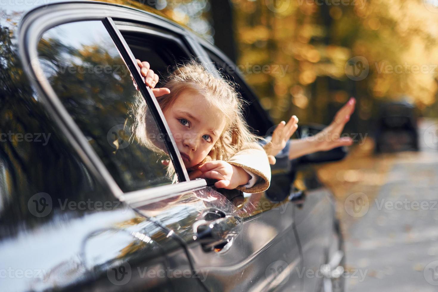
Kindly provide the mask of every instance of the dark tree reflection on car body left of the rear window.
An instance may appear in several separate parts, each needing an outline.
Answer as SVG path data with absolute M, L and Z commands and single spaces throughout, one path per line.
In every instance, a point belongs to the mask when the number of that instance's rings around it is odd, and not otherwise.
M 0 27 L 0 129 L 6 134 L 0 141 L 0 237 L 15 234 L 23 222 L 33 227 L 49 221 L 65 200 L 113 200 L 47 116 L 12 38 L 8 27 Z M 49 139 L 45 141 L 43 135 Z M 40 192 L 48 193 L 53 204 L 43 218 L 28 210 L 29 199 Z

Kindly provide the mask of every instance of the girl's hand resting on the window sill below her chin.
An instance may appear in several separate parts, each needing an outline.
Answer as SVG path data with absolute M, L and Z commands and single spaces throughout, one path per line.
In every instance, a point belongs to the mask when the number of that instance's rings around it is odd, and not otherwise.
M 243 168 L 231 165 L 223 160 L 205 162 L 199 166 L 201 178 L 217 179 L 215 187 L 233 190 L 237 186 L 245 185 L 251 176 Z

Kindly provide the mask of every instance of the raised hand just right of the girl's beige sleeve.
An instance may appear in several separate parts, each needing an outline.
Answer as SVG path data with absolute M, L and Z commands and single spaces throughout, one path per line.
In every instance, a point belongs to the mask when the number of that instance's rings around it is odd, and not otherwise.
M 266 154 L 268 154 L 270 164 L 275 164 L 275 156 L 286 146 L 286 142 L 290 139 L 293 133 L 295 133 L 298 128 L 297 123 L 297 116 L 291 116 L 287 123 L 281 121 L 272 133 L 271 141 L 264 147 Z M 274 158 L 272 159 L 270 155 Z

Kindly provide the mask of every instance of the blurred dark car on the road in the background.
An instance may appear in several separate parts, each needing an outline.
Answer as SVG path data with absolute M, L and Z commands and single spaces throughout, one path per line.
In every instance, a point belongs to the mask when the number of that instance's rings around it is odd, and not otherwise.
M 415 110 L 408 102 L 389 102 L 381 106 L 375 134 L 377 153 L 419 150 Z

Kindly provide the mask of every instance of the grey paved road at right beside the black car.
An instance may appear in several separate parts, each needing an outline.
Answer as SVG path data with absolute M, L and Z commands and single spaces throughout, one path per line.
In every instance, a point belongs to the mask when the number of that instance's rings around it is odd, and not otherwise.
M 422 151 L 397 155 L 377 198 L 368 203 L 366 194 L 347 198 L 346 205 L 355 208 L 347 213 L 360 218 L 347 231 L 351 274 L 346 291 L 438 291 L 438 150 L 433 149 L 438 137 L 433 124 L 421 123 Z

